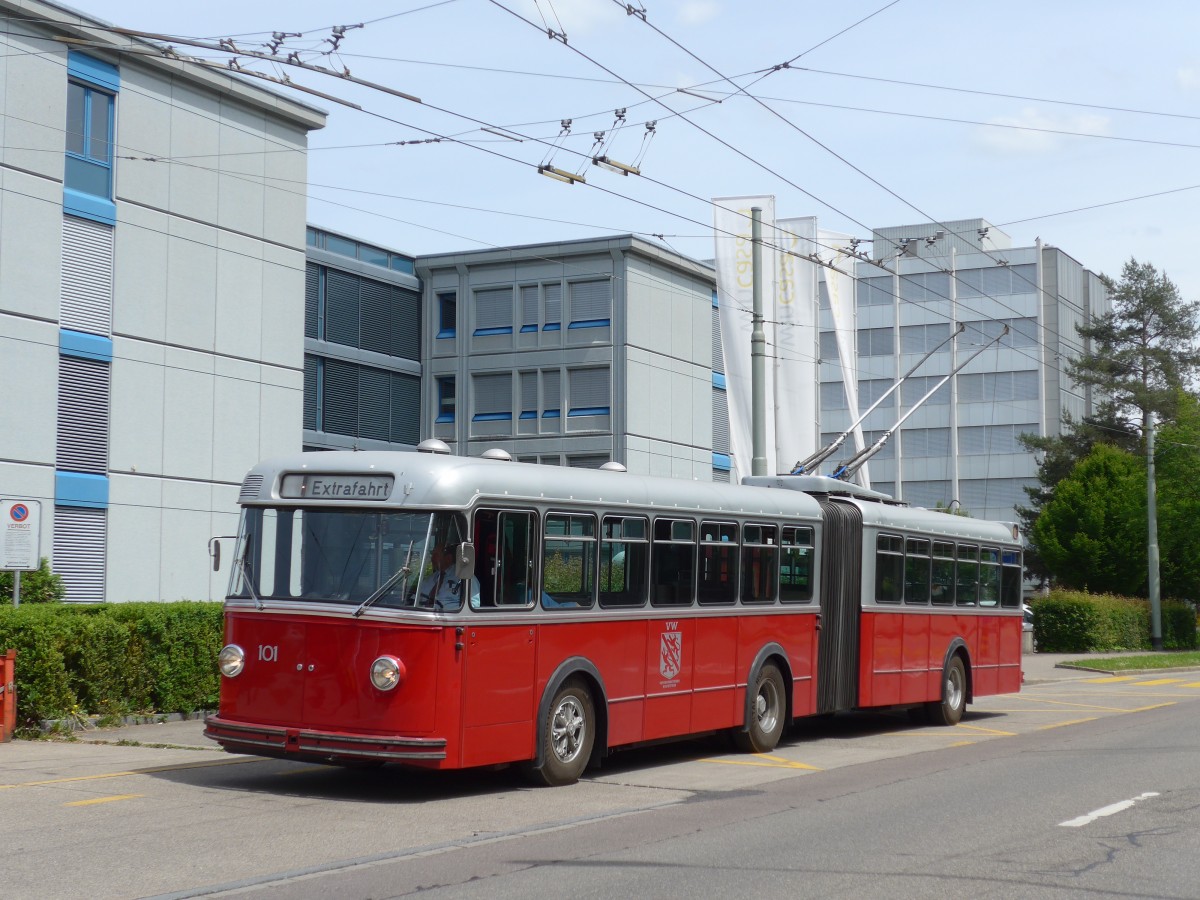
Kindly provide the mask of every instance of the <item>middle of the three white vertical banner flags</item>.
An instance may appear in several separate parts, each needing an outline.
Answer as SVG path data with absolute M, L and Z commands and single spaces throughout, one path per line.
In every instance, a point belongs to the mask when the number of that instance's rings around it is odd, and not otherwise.
M 817 220 L 781 218 L 774 244 L 780 248 L 774 310 L 775 472 L 792 467 L 817 449 L 817 270 L 808 257 L 818 250 Z M 798 254 L 798 256 L 793 256 Z

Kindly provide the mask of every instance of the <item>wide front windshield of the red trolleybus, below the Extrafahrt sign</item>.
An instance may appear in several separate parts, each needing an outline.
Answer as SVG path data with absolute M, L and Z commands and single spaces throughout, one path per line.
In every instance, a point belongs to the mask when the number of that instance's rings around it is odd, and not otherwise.
M 229 596 L 458 608 L 461 590 L 426 588 L 422 604 L 419 588 L 448 580 L 439 571 L 464 536 L 462 516 L 448 512 L 251 506 Z

